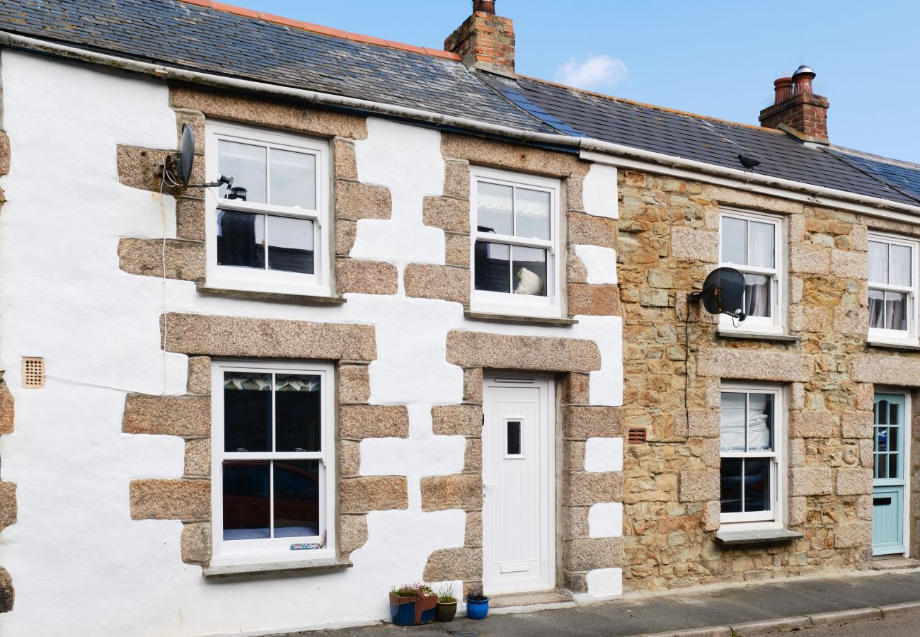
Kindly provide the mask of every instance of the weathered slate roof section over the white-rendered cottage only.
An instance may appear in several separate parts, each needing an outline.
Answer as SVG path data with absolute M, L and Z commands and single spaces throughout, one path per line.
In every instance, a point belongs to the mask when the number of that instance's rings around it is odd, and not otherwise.
M 0 0 L 0 29 L 144 62 L 553 132 L 457 61 L 177 0 Z

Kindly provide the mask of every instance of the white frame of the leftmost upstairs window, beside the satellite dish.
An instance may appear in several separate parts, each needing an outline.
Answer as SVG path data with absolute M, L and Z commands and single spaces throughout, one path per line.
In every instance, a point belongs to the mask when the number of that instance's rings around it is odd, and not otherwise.
M 330 263 L 329 245 L 329 145 L 326 141 L 294 133 L 282 133 L 270 129 L 229 122 L 205 123 L 205 179 L 216 181 L 220 177 L 218 163 L 218 143 L 221 140 L 239 144 L 259 145 L 266 149 L 278 148 L 313 155 L 316 157 L 316 210 L 306 210 L 292 206 L 280 206 L 270 203 L 240 202 L 222 199 L 218 189 L 205 189 L 205 250 L 207 267 L 205 285 L 207 287 L 241 290 L 250 292 L 270 292 L 290 295 L 329 296 Z M 269 156 L 266 154 L 267 170 Z M 270 174 L 270 173 L 267 173 Z M 233 177 L 233 175 L 228 175 Z M 244 183 L 236 186 L 245 187 Z M 270 189 L 270 179 L 266 179 L 266 189 Z M 268 190 L 266 191 L 268 192 Z M 247 213 L 266 214 L 270 216 L 307 219 L 314 224 L 313 264 L 314 273 L 282 272 L 269 269 L 236 267 L 217 264 L 217 214 L 220 210 L 233 210 Z M 268 251 L 265 254 L 268 264 Z

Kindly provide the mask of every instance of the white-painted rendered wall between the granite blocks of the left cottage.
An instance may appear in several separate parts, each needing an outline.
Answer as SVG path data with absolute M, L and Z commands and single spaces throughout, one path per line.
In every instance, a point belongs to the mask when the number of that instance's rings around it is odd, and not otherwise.
M 431 405 L 462 397 L 462 371 L 445 360 L 447 332 L 560 335 L 471 322 L 458 304 L 403 294 L 408 262 L 443 263 L 443 233 L 421 223 L 422 197 L 443 191 L 439 134 L 372 119 L 369 138 L 356 145 L 361 180 L 392 192 L 393 214 L 359 222 L 352 256 L 397 264 L 397 295 L 349 295 L 340 307 L 203 296 L 189 282 L 164 284 L 119 269 L 120 237 L 175 236 L 173 199 L 122 186 L 115 164 L 118 144 L 175 146 L 167 88 L 2 55 L 12 167 L 0 180 L 8 200 L 0 214 L 0 360 L 16 399 L 16 431 L 0 438 L 0 457 L 3 479 L 18 485 L 18 522 L 0 536 L 0 564 L 16 588 L 0 634 L 198 636 L 384 618 L 391 585 L 419 581 L 432 550 L 464 542 L 462 511 L 420 509 L 420 478 L 463 466 L 463 438 L 431 433 Z M 606 203 L 609 188 L 602 194 Z M 597 276 L 610 276 L 604 263 L 587 267 L 589 276 L 595 267 L 604 270 Z M 180 522 L 132 521 L 132 479 L 183 471 L 180 438 L 121 433 L 126 392 L 185 391 L 186 357 L 160 351 L 164 308 L 376 326 L 371 401 L 407 404 L 409 437 L 364 441 L 361 472 L 407 475 L 409 508 L 368 515 L 369 539 L 351 553 L 353 568 L 205 583 L 201 567 L 181 562 Z M 592 339 L 602 353 L 603 368 L 591 375 L 592 404 L 619 405 L 621 320 L 579 319 L 565 335 Z M 45 358 L 45 388 L 20 388 L 22 356 Z M 609 571 L 589 575 L 592 594 L 613 594 L 619 575 Z

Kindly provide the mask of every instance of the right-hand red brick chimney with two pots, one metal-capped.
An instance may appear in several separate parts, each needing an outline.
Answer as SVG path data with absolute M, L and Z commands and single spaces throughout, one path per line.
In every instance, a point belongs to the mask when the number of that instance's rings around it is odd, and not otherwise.
M 815 95 L 811 80 L 815 72 L 802 64 L 792 77 L 780 77 L 773 86 L 776 101 L 760 111 L 760 125 L 778 128 L 805 142 L 828 144 L 827 110 L 831 103 Z

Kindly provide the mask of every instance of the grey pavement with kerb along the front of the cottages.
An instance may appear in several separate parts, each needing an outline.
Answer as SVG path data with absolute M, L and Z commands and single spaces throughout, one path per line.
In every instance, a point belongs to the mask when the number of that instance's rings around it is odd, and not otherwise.
M 289 632 L 284 637 L 747 637 L 803 629 L 819 635 L 832 634 L 823 631 L 824 626 L 873 620 L 902 621 L 904 627 L 914 622 L 913 629 L 903 634 L 920 634 L 920 570 L 846 573 L 535 612 L 490 611 L 489 617 L 481 621 L 464 617 L 449 623 L 405 628 L 377 624 L 337 631 Z M 897 629 L 891 634 L 897 634 Z

